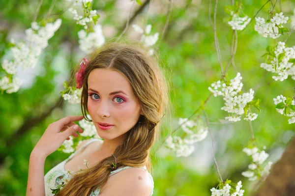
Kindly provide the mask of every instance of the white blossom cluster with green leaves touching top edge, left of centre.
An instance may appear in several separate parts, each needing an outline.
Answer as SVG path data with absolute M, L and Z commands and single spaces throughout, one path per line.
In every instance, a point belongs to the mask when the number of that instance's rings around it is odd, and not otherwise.
M 67 0 L 70 2 L 74 2 L 74 5 L 82 5 L 83 8 L 83 15 L 79 15 L 77 10 L 73 7 L 69 8 L 69 11 L 74 14 L 74 20 L 77 21 L 77 25 L 84 26 L 85 29 L 88 28 L 87 24 L 90 22 L 94 22 L 96 24 L 96 21 L 99 17 L 96 10 L 91 10 L 91 3 L 92 0 Z

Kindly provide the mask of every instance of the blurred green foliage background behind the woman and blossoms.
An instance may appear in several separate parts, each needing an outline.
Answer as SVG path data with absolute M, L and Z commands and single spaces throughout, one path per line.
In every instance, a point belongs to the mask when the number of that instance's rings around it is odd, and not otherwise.
M 121 33 L 125 27 L 132 1 L 130 0 L 93 0 L 92 9 L 98 10 L 101 18 L 98 23 L 103 27 L 106 39 Z M 135 4 L 131 21 L 124 36 L 139 39 L 132 24 L 145 23 L 149 0 L 143 5 Z M 215 1 L 214 1 L 215 2 Z M 30 27 L 39 1 L 37 0 L 0 0 L 0 58 L 9 53 L 8 43 L 25 38 L 25 29 Z M 243 0 L 244 13 L 253 18 L 266 0 Z M 231 1 L 220 1 L 217 7 L 217 35 L 219 46 L 226 65 L 230 59 L 232 29 L 224 21 L 229 17 L 225 6 Z M 46 17 L 51 1 L 44 0 L 37 22 Z M 163 30 L 169 7 L 168 0 L 152 0 L 148 24 L 151 33 Z M 174 0 L 167 32 L 157 50 L 160 65 L 167 70 L 170 83 L 171 118 L 165 118 L 159 143 L 172 130 L 177 128 L 179 117 L 189 117 L 210 94 L 208 86 L 221 77 L 220 66 L 214 46 L 214 35 L 208 21 L 207 0 Z M 76 25 L 72 14 L 66 11 L 68 3 L 57 0 L 52 11 L 54 20 L 62 19 L 62 25 L 49 40 L 49 46 L 42 53 L 38 64 L 32 70 L 19 70 L 18 76 L 25 80 L 21 89 L 12 94 L 0 95 L 0 196 L 24 196 L 26 193 L 29 155 L 47 126 L 66 116 L 80 115 L 80 105 L 68 104 L 60 99 L 59 91 L 63 81 L 70 77 L 72 68 L 85 55 L 78 46 L 77 32 L 83 27 Z M 214 3 L 212 5 L 214 8 Z M 281 9 L 285 16 L 292 16 L 295 8 L 293 0 L 282 0 Z M 279 12 L 279 5 L 276 11 Z M 267 18 L 269 3 L 257 16 Z M 213 11 L 212 11 L 213 13 Z M 270 157 L 267 161 L 276 162 L 294 135 L 294 124 L 275 110 L 273 98 L 283 94 L 293 96 L 295 82 L 291 78 L 275 82 L 271 73 L 260 67 L 261 57 L 268 45 L 274 46 L 276 40 L 265 38 L 254 30 L 255 20 L 242 32 L 238 32 L 238 45 L 235 56 L 236 69 L 243 77 L 244 90 L 255 90 L 255 99 L 262 100 L 262 112 L 252 122 L 255 137 L 260 146 L 266 146 Z M 286 24 L 290 28 L 290 19 Z M 282 35 L 277 41 L 285 40 Z M 286 43 L 295 45 L 294 33 Z M 157 44 L 156 44 L 157 46 Z M 231 66 L 229 77 L 236 72 Z M 0 68 L 0 77 L 4 70 Z M 247 121 L 231 124 L 218 123 L 227 113 L 221 111 L 224 101 L 212 97 L 206 106 L 209 117 L 216 159 L 223 179 L 242 181 L 245 196 L 249 196 L 255 182 L 249 182 L 241 175 L 247 170 L 250 159 L 242 152 L 251 138 Z M 203 112 L 200 114 L 203 115 Z M 181 131 L 176 134 L 181 135 Z M 45 173 L 70 154 L 56 151 L 45 162 Z M 152 159 L 154 196 L 210 196 L 210 188 L 218 184 L 218 174 L 212 157 L 209 135 L 195 144 L 195 151 L 189 157 L 177 158 L 167 148 L 161 147 Z

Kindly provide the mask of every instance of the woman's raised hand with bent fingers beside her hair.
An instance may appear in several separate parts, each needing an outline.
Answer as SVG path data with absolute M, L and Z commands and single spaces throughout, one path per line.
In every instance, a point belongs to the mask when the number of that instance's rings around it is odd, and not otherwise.
M 45 158 L 55 152 L 64 140 L 69 140 L 69 136 L 78 137 L 76 133 L 83 133 L 83 129 L 74 121 L 82 120 L 83 116 L 66 116 L 51 123 L 45 130 L 41 139 L 35 145 L 33 151 Z M 63 132 L 61 132 L 63 131 Z

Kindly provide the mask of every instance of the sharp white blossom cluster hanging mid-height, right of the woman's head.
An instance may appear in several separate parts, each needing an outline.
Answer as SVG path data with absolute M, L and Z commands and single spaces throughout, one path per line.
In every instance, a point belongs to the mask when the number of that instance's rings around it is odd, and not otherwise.
M 259 100 L 252 101 L 254 98 L 254 90 L 250 89 L 248 93 L 241 93 L 243 84 L 241 83 L 242 77 L 240 73 L 237 73 L 236 77 L 231 80 L 231 83 L 223 83 L 221 81 L 214 82 L 208 89 L 216 97 L 218 95 L 223 96 L 225 106 L 221 108 L 226 112 L 232 113 L 231 116 L 225 117 L 229 121 L 240 121 L 240 117 L 245 113 L 244 120 L 255 120 L 257 118 L 256 113 L 248 112 L 250 106 L 259 107 Z M 212 88 L 213 87 L 213 88 Z

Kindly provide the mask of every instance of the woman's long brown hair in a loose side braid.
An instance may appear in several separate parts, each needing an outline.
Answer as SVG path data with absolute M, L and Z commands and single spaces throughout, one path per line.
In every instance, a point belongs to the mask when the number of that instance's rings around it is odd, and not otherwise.
M 139 47 L 109 43 L 90 56 L 83 80 L 81 109 L 87 118 L 88 77 L 96 68 L 105 68 L 124 74 L 141 105 L 144 115 L 128 131 L 126 140 L 114 152 L 117 166 L 147 166 L 149 153 L 159 131 L 161 117 L 168 108 L 168 85 L 159 65 Z M 88 119 L 89 120 L 89 119 Z M 91 120 L 89 120 L 91 121 Z M 60 190 L 58 196 L 88 196 L 105 183 L 112 170 L 114 157 L 107 157 L 94 167 L 79 171 Z

